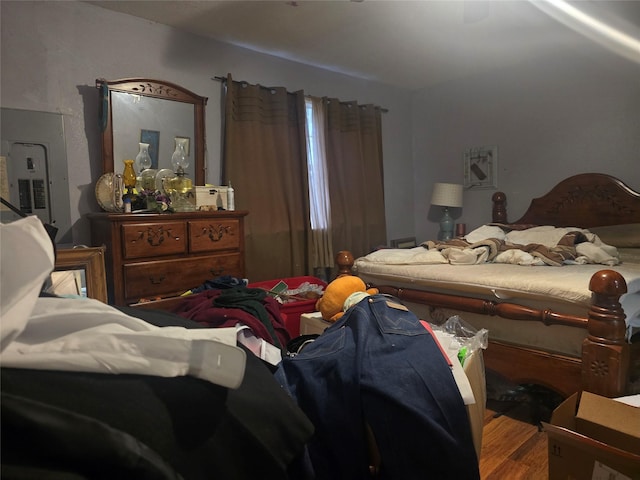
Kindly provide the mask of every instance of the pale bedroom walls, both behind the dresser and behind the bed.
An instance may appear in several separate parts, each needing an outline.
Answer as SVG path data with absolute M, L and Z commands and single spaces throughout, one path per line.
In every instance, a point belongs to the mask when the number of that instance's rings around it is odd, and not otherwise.
M 2 107 L 65 118 L 74 241 L 98 211 L 95 79 L 144 76 L 207 96 L 208 181 L 220 170 L 220 84 L 235 79 L 375 103 L 383 116 L 388 238 L 435 238 L 434 182 L 462 182 L 467 148 L 498 146 L 498 189 L 516 220 L 529 199 L 575 173 L 640 189 L 640 64 L 583 39 L 509 68 L 413 94 L 182 33 L 82 2 L 0 2 Z M 465 192 L 458 221 L 490 221 L 493 190 Z M 237 192 L 241 195 L 241 192 Z M 460 216 L 461 215 L 461 216 Z M 348 247 L 348 246 L 346 246 Z

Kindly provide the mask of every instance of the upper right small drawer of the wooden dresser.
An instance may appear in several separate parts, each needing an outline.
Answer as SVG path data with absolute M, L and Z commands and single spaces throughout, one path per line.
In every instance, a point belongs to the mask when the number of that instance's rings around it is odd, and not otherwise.
M 236 219 L 207 219 L 189 222 L 189 251 L 195 253 L 240 248 L 242 231 Z

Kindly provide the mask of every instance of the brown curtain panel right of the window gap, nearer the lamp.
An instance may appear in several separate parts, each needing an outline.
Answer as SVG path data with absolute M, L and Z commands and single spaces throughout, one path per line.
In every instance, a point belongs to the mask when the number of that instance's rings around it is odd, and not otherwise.
M 382 112 L 324 98 L 333 250 L 357 258 L 387 243 Z

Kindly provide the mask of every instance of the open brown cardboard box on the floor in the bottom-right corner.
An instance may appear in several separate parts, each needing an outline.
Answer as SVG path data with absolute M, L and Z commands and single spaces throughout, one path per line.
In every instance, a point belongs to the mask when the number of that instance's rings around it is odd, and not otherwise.
M 576 393 L 543 426 L 550 480 L 640 479 L 640 408 Z

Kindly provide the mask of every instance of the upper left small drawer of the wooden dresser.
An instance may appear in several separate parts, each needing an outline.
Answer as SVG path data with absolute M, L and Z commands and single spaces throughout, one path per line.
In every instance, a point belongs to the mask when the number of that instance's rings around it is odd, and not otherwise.
M 186 253 L 186 224 L 157 222 L 123 225 L 122 244 L 125 259 Z

